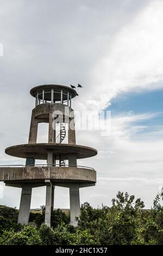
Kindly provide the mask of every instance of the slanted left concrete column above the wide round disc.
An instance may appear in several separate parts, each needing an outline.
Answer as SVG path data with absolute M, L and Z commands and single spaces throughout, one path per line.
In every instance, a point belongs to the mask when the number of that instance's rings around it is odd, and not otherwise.
M 38 122 L 35 119 L 35 109 L 32 111 L 32 117 L 30 122 L 30 132 L 29 132 L 29 140 L 28 143 L 36 143 L 37 141 L 37 128 L 38 128 Z

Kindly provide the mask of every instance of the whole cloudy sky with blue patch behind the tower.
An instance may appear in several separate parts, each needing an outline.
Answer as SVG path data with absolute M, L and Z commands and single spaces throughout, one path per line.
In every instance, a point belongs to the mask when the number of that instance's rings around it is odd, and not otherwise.
M 80 201 L 111 204 L 118 190 L 151 207 L 163 184 L 163 2 L 161 0 L 0 0 L 0 164 L 24 164 L 6 147 L 28 142 L 39 84 L 83 85 L 73 109 L 111 111 L 111 133 L 77 131 L 77 144 L 97 148 L 80 165 L 97 171 Z M 47 126 L 39 127 L 40 141 Z M 1 182 L 0 204 L 19 206 L 21 189 Z M 56 187 L 55 207 L 69 207 Z M 34 188 L 32 208 L 45 205 Z

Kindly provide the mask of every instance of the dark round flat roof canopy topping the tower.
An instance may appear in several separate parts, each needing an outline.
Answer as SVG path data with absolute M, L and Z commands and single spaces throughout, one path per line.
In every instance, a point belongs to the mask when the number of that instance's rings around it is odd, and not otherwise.
M 54 100 L 60 99 L 60 93 L 62 90 L 62 97 L 63 100 L 67 99 L 67 94 L 71 95 L 71 98 L 74 98 L 77 96 L 76 90 L 72 89 L 69 86 L 65 85 L 39 85 L 35 86 L 30 90 L 30 94 L 33 97 L 37 96 L 37 92 L 39 94 L 39 99 L 42 99 L 42 91 L 44 90 L 45 93 L 45 100 L 51 100 L 51 92 L 52 89 L 54 90 Z

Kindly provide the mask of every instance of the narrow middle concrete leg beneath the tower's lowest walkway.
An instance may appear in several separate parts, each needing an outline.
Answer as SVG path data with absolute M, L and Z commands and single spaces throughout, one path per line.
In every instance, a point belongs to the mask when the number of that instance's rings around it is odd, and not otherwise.
M 45 205 L 45 224 L 51 227 L 51 211 L 52 211 L 52 182 L 45 180 L 46 183 L 46 205 Z

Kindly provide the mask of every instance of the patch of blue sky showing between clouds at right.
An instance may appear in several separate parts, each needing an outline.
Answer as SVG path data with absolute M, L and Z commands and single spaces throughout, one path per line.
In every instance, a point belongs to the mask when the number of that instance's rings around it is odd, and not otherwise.
M 135 121 L 134 125 L 142 126 L 137 135 L 163 127 L 163 90 L 120 93 L 111 100 L 111 105 L 106 109 L 111 111 L 111 116 L 154 114 L 149 119 Z M 132 124 L 131 124 L 132 125 Z M 162 136 L 162 134 L 161 134 Z M 158 133 L 158 138 L 159 138 Z

